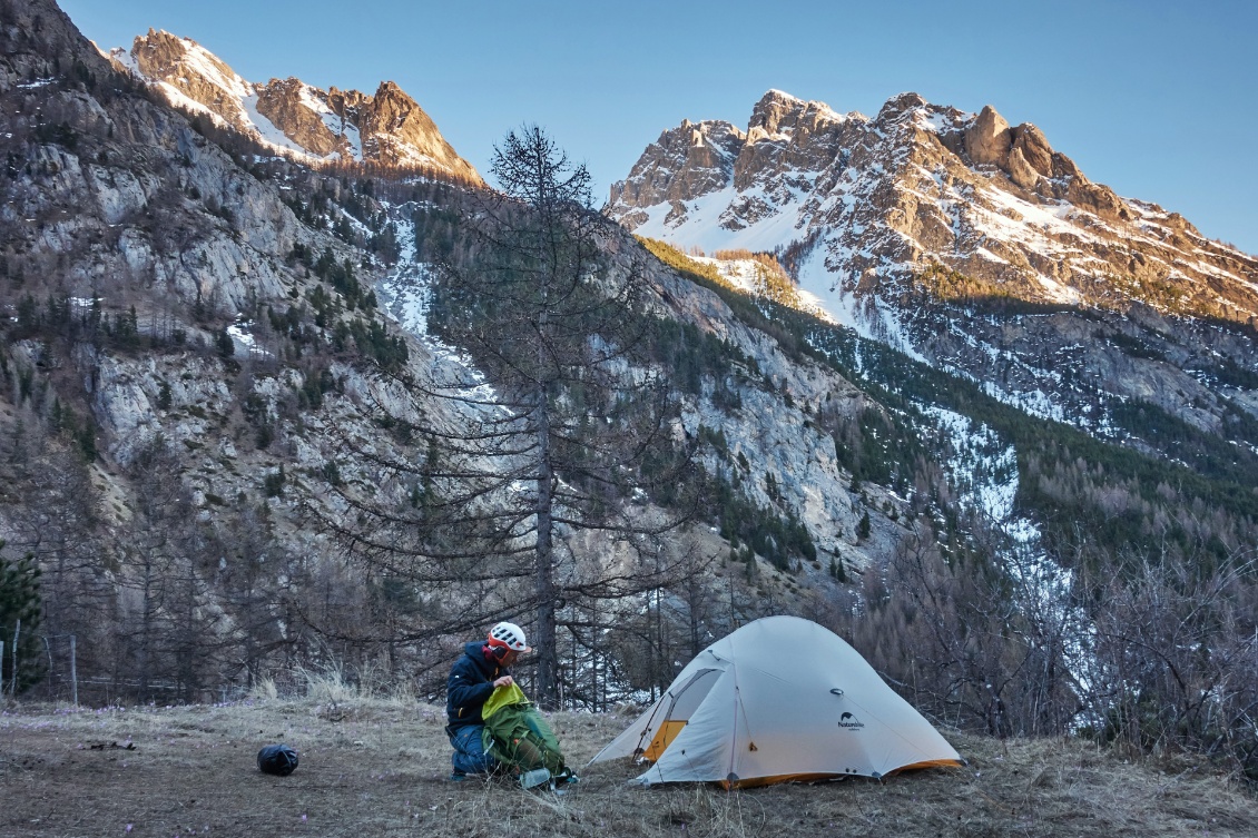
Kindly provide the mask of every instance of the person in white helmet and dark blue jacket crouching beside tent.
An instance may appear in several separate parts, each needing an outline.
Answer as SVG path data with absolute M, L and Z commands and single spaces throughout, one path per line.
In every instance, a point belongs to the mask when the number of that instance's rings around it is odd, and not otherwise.
M 454 755 L 452 780 L 468 774 L 488 774 L 498 768 L 497 760 L 484 751 L 484 702 L 499 687 L 515 683 L 511 667 L 521 654 L 532 649 L 525 643 L 525 632 L 515 623 L 498 623 L 486 640 L 463 645 L 463 654 L 450 668 L 445 686 L 445 734 Z

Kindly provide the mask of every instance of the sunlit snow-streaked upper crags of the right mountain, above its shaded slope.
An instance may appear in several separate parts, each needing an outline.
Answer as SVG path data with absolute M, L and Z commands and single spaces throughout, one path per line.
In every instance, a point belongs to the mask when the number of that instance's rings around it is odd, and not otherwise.
M 1027 301 L 1258 317 L 1254 257 L 1091 181 L 1030 123 L 916 93 L 869 118 L 770 91 L 746 131 L 683 122 L 611 186 L 610 211 L 682 247 L 777 250 L 823 298 L 942 265 Z

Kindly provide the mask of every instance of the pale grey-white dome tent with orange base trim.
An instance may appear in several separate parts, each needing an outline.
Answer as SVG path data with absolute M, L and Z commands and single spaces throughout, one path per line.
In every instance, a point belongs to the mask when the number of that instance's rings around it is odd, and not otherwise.
M 590 760 L 652 763 L 635 783 L 769 785 L 960 765 L 921 713 L 833 632 L 766 617 L 703 649 Z

